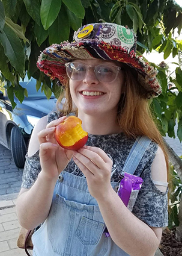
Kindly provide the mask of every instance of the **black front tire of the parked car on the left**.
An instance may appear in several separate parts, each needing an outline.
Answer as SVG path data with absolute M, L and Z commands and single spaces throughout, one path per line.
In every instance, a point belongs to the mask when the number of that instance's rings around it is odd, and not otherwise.
M 14 163 L 18 168 L 23 168 L 25 165 L 26 143 L 22 133 L 20 132 L 19 128 L 17 128 L 16 126 L 14 126 L 11 129 L 10 143 L 11 143 L 11 154 L 12 154 Z

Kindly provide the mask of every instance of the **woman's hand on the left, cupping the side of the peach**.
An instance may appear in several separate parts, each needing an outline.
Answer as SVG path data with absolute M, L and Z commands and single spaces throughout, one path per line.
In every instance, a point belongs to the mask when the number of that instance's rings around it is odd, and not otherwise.
M 55 139 L 55 128 L 63 122 L 66 117 L 53 120 L 46 128 L 41 130 L 37 136 L 40 143 L 40 164 L 41 169 L 47 178 L 58 178 L 58 175 L 67 166 L 73 151 L 61 148 Z

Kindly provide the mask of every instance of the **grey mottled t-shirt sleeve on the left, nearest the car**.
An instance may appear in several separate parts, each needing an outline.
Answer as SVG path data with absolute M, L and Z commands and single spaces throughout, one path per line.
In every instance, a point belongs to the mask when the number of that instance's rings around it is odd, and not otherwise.
M 30 189 L 37 180 L 38 173 L 41 171 L 39 151 L 31 157 L 26 155 L 25 166 L 23 169 L 22 187 Z

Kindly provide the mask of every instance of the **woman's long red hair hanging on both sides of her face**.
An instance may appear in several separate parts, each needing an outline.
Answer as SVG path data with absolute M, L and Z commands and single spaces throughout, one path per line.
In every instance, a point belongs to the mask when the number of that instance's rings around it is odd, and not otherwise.
M 166 166 L 169 168 L 168 154 L 163 142 L 155 118 L 150 109 L 150 101 L 147 98 L 147 91 L 139 84 L 138 73 L 135 69 L 122 63 L 125 73 L 123 93 L 118 104 L 118 123 L 121 130 L 128 137 L 136 138 L 144 135 L 156 142 L 162 148 L 165 155 Z M 70 95 L 69 80 L 65 77 L 64 92 L 60 95 L 57 108 L 62 114 L 71 112 L 77 113 Z M 63 109 L 59 109 L 60 102 L 65 98 Z

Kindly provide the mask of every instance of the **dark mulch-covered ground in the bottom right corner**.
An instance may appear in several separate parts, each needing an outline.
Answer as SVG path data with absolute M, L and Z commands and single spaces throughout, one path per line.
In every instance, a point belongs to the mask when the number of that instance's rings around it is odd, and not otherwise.
M 175 239 L 175 228 L 163 231 L 159 248 L 164 256 L 182 256 L 182 242 Z

